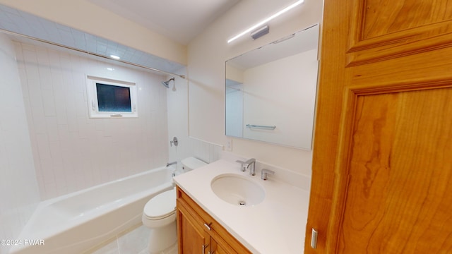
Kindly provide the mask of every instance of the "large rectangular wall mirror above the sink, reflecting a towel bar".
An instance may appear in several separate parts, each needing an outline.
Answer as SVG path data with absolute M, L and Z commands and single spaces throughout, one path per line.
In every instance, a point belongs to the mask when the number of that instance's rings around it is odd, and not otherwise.
M 226 135 L 311 150 L 319 24 L 226 61 Z

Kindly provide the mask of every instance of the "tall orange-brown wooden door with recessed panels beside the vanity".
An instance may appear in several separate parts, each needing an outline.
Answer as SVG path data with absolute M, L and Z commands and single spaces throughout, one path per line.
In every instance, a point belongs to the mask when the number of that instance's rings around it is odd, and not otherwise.
M 452 253 L 452 1 L 325 0 L 322 31 L 305 253 Z

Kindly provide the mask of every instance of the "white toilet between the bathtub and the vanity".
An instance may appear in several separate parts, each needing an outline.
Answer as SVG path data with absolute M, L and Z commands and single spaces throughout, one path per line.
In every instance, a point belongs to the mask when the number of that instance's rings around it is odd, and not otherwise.
M 195 157 L 182 159 L 182 169 L 189 171 L 206 165 Z M 161 253 L 177 242 L 176 188 L 151 198 L 143 208 L 143 225 L 150 229 L 149 253 Z

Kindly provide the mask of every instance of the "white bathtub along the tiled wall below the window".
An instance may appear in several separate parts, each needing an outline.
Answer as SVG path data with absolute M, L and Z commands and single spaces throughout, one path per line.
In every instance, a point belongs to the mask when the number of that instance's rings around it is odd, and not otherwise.
M 139 224 L 145 203 L 174 188 L 175 169 L 152 169 L 41 202 L 10 253 L 83 253 Z

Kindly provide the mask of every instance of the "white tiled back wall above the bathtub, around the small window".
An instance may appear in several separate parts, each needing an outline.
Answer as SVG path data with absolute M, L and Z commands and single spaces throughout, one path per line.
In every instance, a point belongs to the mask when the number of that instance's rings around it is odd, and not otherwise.
M 167 162 L 162 75 L 85 54 L 18 42 L 15 47 L 42 200 Z M 139 117 L 90 119 L 86 75 L 136 83 Z

